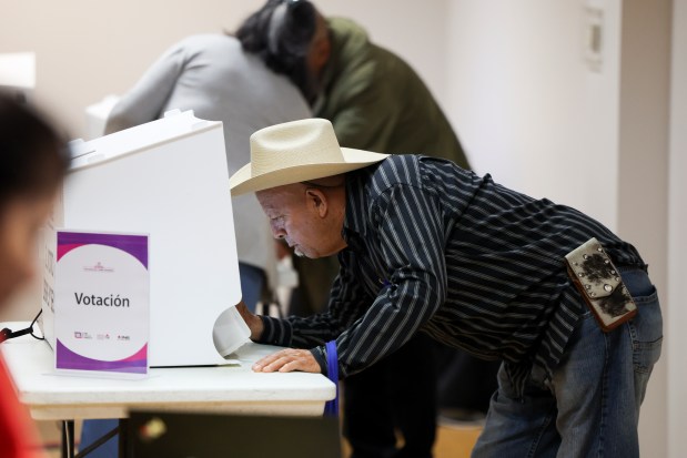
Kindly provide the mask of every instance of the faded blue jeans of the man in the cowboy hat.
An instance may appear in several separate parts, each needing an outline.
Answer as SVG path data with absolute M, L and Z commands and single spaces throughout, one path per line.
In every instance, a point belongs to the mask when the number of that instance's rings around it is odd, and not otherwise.
M 637 316 L 604 333 L 587 309 L 553 376 L 533 373 L 522 398 L 502 365 L 473 457 L 639 456 L 639 406 L 660 356 L 663 319 L 648 275 L 618 271 Z

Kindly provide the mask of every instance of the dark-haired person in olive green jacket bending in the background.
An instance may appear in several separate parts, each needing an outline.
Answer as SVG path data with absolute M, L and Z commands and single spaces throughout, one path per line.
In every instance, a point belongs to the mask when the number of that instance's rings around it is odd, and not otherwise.
M 372 43 L 348 19 L 320 14 L 306 0 L 269 0 L 238 30 L 257 54 L 301 90 L 317 118 L 329 119 L 342 146 L 420 153 L 468 162 L 436 100 L 398 55 Z M 301 305 L 320 312 L 339 272 L 335 257 L 295 258 Z M 303 308 L 303 307 L 302 307 Z M 293 305 L 292 305 L 293 309 Z M 344 383 L 344 432 L 353 458 L 432 456 L 437 417 L 434 344 L 423 334 Z M 493 387 L 496 387 L 495 369 Z M 396 447 L 396 428 L 404 447 Z

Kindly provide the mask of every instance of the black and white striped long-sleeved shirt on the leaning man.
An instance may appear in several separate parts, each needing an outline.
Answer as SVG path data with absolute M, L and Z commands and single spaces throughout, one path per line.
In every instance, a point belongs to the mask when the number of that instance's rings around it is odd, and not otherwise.
M 329 311 L 263 317 L 262 336 L 312 348 L 323 372 L 323 344 L 335 338 L 341 377 L 418 330 L 504 359 L 521 381 L 533 365 L 550 374 L 586 307 L 565 254 L 594 236 L 616 266 L 644 265 L 632 245 L 574 208 L 417 155 L 348 173 L 343 236 Z

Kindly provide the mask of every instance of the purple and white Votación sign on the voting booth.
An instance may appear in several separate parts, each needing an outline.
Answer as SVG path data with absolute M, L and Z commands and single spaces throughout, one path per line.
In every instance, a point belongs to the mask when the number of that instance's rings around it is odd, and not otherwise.
M 58 231 L 54 332 L 58 372 L 148 374 L 147 235 Z

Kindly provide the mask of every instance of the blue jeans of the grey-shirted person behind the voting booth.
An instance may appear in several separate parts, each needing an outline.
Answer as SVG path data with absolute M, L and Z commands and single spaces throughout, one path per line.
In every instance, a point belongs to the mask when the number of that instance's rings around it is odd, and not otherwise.
M 239 263 L 239 273 L 241 275 L 243 302 L 251 312 L 255 312 L 255 304 L 260 301 L 260 295 L 265 283 L 264 271 L 249 264 Z M 117 425 L 118 420 L 84 420 L 81 430 L 81 448 L 93 444 L 97 439 L 104 436 L 113 428 L 117 428 Z M 118 445 L 118 436 L 114 436 L 88 456 L 92 458 L 117 457 Z

